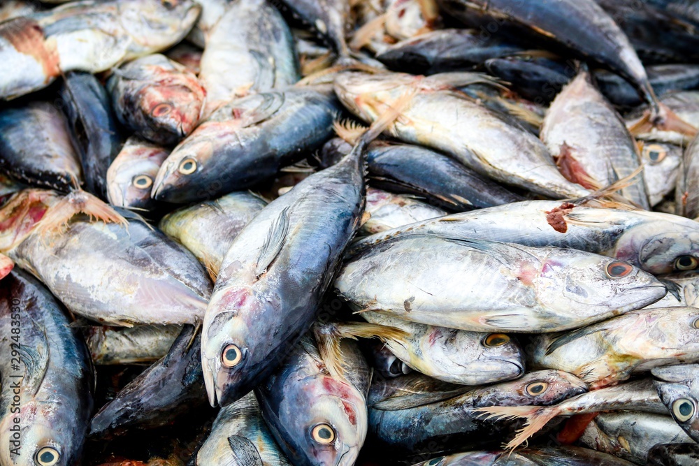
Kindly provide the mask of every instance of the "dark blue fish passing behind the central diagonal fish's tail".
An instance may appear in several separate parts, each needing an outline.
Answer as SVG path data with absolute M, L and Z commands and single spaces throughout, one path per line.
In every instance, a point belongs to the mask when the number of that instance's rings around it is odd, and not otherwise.
M 336 163 L 350 150 L 352 146 L 339 138 L 329 140 L 321 152 L 322 166 Z M 366 161 L 373 187 L 422 196 L 450 211 L 523 200 L 454 159 L 417 145 L 376 141 Z

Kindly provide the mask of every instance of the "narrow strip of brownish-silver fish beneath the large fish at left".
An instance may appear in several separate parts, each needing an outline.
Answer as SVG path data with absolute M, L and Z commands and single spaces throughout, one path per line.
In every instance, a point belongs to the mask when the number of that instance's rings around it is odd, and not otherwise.
M 88 326 L 82 333 L 94 364 L 143 364 L 165 356 L 181 330 L 178 325 Z

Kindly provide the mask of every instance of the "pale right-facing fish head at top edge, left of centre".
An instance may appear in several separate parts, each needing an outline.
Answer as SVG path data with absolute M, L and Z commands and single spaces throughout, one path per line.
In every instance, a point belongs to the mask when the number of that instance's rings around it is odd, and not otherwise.
M 194 26 L 201 6 L 194 0 L 127 0 L 117 2 L 121 27 L 141 48 L 164 50 Z

